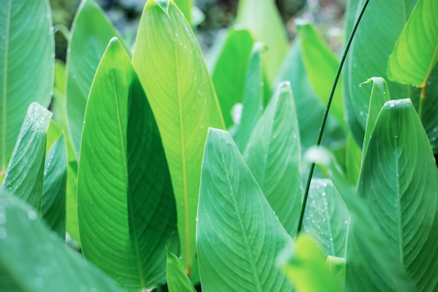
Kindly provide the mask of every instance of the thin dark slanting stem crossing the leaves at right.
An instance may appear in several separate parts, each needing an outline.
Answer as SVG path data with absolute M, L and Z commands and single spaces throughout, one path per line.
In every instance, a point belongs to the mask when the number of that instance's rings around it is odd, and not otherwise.
M 324 128 L 325 128 L 325 123 L 327 122 L 327 116 L 328 116 L 328 113 L 330 111 L 330 106 L 332 104 L 334 90 L 336 89 L 336 85 L 337 85 L 337 83 L 339 81 L 339 76 L 341 76 L 341 70 L 342 70 L 342 67 L 344 67 L 344 62 L 345 62 L 345 59 L 347 57 L 348 49 L 350 48 L 350 45 L 351 45 L 351 41 L 353 41 L 353 36 L 355 35 L 356 30 L 358 29 L 359 22 L 362 19 L 362 15 L 365 12 L 365 8 L 367 8 L 367 6 L 368 6 L 368 2 L 369 2 L 369 0 L 365 1 L 364 6 L 362 7 L 362 11 L 360 11 L 360 15 L 358 17 L 358 20 L 356 20 L 356 23 L 355 23 L 355 25 L 353 27 L 353 31 L 351 32 L 350 38 L 348 39 L 346 48 L 344 50 L 344 55 L 342 55 L 341 62 L 339 63 L 338 71 L 336 72 L 336 76 L 334 77 L 334 82 L 333 82 L 332 90 L 330 91 L 330 97 L 328 99 L 327 106 L 325 107 L 323 121 L 321 122 L 321 127 L 320 127 L 319 134 L 318 134 L 318 140 L 316 140 L 316 146 L 320 146 L 321 139 L 323 139 L 323 132 L 324 132 Z M 304 192 L 304 198 L 303 198 L 303 202 L 302 202 L 301 213 L 299 214 L 297 235 L 299 235 L 299 232 L 301 232 L 301 229 L 302 229 L 303 219 L 304 219 L 304 211 L 306 211 L 306 203 L 307 203 L 307 198 L 309 197 L 310 183 L 311 183 L 311 179 L 312 179 L 312 176 L 313 176 L 313 170 L 314 169 L 315 169 L 315 163 L 313 162 L 311 164 L 311 167 L 310 167 L 309 176 L 307 177 L 306 190 Z

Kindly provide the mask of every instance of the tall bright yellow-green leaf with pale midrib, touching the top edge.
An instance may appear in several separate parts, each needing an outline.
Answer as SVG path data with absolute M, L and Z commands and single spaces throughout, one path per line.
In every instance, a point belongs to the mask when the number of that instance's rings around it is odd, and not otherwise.
M 132 62 L 162 135 L 176 196 L 181 257 L 190 274 L 202 150 L 208 127 L 224 127 L 220 107 L 197 39 L 173 2 L 146 3 Z

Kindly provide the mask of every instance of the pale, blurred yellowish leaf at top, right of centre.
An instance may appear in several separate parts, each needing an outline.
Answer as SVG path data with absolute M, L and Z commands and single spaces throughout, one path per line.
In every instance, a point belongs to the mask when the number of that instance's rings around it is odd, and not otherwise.
M 241 0 L 236 24 L 247 27 L 256 41 L 264 43 L 266 74 L 271 84 L 288 51 L 288 38 L 276 5 L 272 0 Z

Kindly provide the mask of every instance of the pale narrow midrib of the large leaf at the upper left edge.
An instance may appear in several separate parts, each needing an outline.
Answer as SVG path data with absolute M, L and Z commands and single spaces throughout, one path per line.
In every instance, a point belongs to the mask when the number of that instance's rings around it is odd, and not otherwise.
M 5 32 L 5 55 L 4 55 L 4 66 L 3 66 L 3 112 L 2 112 L 2 135 L 1 135 L 1 169 L 0 172 L 3 173 L 6 170 L 6 106 L 8 104 L 6 93 L 8 91 L 8 52 L 9 52 L 9 29 L 10 29 L 10 10 L 12 7 L 12 0 L 8 1 L 8 12 L 6 15 L 6 32 Z

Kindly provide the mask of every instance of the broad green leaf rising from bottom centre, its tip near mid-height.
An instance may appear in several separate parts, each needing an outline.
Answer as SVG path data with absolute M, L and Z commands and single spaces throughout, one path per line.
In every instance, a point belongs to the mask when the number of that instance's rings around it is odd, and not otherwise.
M 291 241 L 228 132 L 210 129 L 197 251 L 203 291 L 292 291 L 275 257 Z

